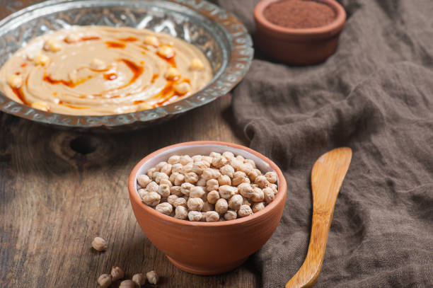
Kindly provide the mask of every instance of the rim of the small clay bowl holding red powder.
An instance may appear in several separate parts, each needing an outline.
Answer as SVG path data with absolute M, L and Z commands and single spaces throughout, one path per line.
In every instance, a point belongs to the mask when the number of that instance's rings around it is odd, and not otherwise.
M 335 0 L 318 0 L 317 2 L 321 2 L 333 8 L 335 11 L 334 20 L 328 25 L 315 27 L 315 28 L 286 28 L 279 25 L 275 25 L 267 20 L 263 12 L 265 8 L 270 4 L 281 1 L 281 0 L 262 0 L 259 4 L 257 4 L 254 8 L 254 17 L 260 22 L 265 28 L 269 29 L 270 32 L 274 32 L 275 35 L 291 35 L 295 37 L 318 37 L 318 36 L 332 36 L 335 33 L 338 33 L 342 29 L 342 26 L 346 21 L 346 11 L 337 1 Z

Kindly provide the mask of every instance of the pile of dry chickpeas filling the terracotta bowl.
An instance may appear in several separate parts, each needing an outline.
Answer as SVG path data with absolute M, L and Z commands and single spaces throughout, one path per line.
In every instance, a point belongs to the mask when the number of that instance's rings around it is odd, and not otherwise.
M 278 192 L 274 171 L 226 151 L 173 155 L 137 176 L 138 194 L 156 211 L 189 221 L 229 221 L 264 209 Z

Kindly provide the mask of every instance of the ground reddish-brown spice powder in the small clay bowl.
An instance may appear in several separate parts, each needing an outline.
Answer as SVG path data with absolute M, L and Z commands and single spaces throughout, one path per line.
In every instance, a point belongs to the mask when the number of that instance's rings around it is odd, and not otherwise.
M 335 18 L 333 8 L 318 1 L 283 0 L 265 8 L 263 15 L 275 25 L 286 28 L 315 28 Z

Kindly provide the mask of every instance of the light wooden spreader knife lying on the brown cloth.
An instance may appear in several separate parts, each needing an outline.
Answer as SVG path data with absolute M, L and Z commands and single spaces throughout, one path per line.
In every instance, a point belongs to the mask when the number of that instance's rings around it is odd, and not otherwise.
M 286 288 L 313 287 L 321 272 L 328 232 L 338 192 L 352 159 L 352 149 L 337 148 L 323 154 L 311 171 L 313 219 L 308 253 L 301 268 Z

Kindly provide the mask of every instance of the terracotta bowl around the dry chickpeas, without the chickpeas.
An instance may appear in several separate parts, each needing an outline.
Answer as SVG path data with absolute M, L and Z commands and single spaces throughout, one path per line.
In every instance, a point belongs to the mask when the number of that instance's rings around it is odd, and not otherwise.
M 175 219 L 142 202 L 137 193 L 137 175 L 146 173 L 171 155 L 203 155 L 211 151 L 231 151 L 253 159 L 262 172 L 276 171 L 279 179 L 275 200 L 248 217 L 209 223 Z M 259 250 L 277 228 L 287 194 L 286 180 L 270 159 L 241 145 L 212 141 L 175 144 L 144 157 L 129 175 L 128 188 L 135 217 L 147 238 L 166 253 L 175 266 L 199 275 L 233 270 Z

